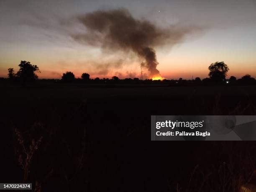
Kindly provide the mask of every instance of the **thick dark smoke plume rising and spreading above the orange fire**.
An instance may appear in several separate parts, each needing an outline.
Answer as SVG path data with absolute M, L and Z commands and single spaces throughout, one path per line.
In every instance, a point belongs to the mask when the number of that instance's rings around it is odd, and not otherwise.
M 177 25 L 161 29 L 147 20 L 137 20 L 126 9 L 97 10 L 77 17 L 86 30 L 72 35 L 80 43 L 102 46 L 103 49 L 133 51 L 144 61 L 150 76 L 159 75 L 156 69 L 155 46 L 178 44 L 194 28 Z

